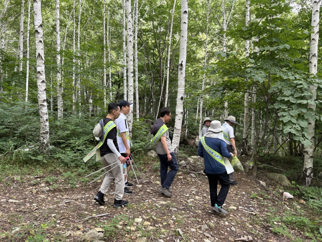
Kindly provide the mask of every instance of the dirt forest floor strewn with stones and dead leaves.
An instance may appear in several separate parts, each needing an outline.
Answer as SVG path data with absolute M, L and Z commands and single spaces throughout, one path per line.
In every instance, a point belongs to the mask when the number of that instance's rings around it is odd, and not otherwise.
M 212 213 L 208 179 L 201 173 L 179 170 L 173 197 L 162 196 L 157 164 L 144 169 L 144 182 L 139 179 L 133 194 L 124 195 L 129 205 L 123 208 L 112 206 L 114 185 L 105 206 L 93 200 L 102 179 L 87 185 L 70 171 L 5 177 L 0 241 L 84 241 L 92 229 L 103 233 L 101 241 L 321 241 L 305 224 L 290 222 L 309 213 L 306 204 L 284 199 L 280 187 L 261 173 L 266 187 L 236 173 L 238 184 L 230 187 L 224 206 L 228 214 L 221 215 Z

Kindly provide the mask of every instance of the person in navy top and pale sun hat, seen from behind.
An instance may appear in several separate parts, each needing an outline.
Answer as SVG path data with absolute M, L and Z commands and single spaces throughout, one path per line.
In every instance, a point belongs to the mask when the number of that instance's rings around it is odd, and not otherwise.
M 224 204 L 229 191 L 229 176 L 223 157 L 231 158 L 223 137 L 223 127 L 218 120 L 211 122 L 208 132 L 199 141 L 198 155 L 204 158 L 205 171 L 209 181 L 211 207 L 217 213 L 227 214 L 221 206 Z M 221 189 L 217 194 L 218 181 Z

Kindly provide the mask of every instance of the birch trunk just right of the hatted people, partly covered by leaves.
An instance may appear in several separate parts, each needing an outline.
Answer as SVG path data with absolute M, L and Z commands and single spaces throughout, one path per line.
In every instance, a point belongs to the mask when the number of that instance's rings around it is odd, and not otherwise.
M 250 0 L 246 0 L 246 26 L 250 22 Z M 249 56 L 250 51 L 250 41 L 245 41 L 245 57 Z M 245 79 L 245 82 L 248 80 Z M 245 92 L 244 97 L 244 132 L 243 132 L 243 142 L 241 142 L 240 155 L 248 155 L 248 133 L 249 133 L 249 92 Z

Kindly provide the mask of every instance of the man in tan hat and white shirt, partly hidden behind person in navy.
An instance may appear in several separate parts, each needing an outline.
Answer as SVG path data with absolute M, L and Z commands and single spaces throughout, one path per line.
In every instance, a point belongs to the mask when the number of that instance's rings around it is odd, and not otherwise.
M 222 127 L 223 127 L 223 137 L 227 145 L 227 150 L 228 152 L 234 153 L 234 155 L 237 155 L 235 136 L 233 134 L 232 126 L 238 123 L 236 122 L 236 118 L 234 116 L 228 116 L 227 119 L 224 119 L 224 120 L 225 120 L 225 123 L 222 124 Z M 232 157 L 229 158 L 230 163 L 231 163 L 231 160 L 232 160 Z M 237 184 L 237 181 L 235 180 L 235 172 L 232 172 L 229 174 L 229 182 L 230 182 L 230 185 Z

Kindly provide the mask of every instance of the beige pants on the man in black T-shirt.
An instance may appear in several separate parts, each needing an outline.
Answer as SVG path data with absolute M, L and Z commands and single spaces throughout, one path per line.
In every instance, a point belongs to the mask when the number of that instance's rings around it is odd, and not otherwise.
M 103 163 L 103 167 L 110 165 L 106 168 L 107 171 L 110 171 L 107 172 L 105 175 L 105 178 L 100 188 L 101 193 L 106 194 L 109 190 L 112 181 L 115 179 L 115 199 L 122 200 L 125 186 L 124 175 L 122 172 L 122 163 L 119 161 L 118 157 L 114 153 L 104 155 L 103 157 L 101 157 L 101 161 Z

